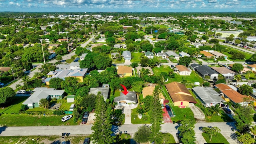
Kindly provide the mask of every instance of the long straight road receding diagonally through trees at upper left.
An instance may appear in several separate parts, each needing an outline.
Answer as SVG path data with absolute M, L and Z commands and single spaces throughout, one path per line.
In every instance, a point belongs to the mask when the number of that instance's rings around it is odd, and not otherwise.
M 92 38 L 94 38 L 94 35 L 92 36 Z M 89 44 L 91 41 L 92 41 L 92 38 L 90 38 L 88 41 L 86 41 L 84 44 L 82 44 L 81 46 L 84 48 L 87 44 Z M 75 49 L 76 50 L 76 49 Z M 63 60 L 68 60 L 68 59 L 70 59 L 71 58 L 71 56 L 74 56 L 75 55 L 75 50 L 73 50 L 72 52 L 70 52 L 69 54 L 66 54 L 65 56 L 62 56 L 62 59 Z M 55 62 L 58 62 L 58 60 L 51 60 L 51 61 L 49 61 L 49 62 L 46 62 L 46 63 L 55 63 Z M 40 72 L 39 70 L 38 70 L 38 68 L 40 68 L 41 66 L 42 66 L 42 64 L 38 64 L 38 65 L 34 65 L 34 66 L 36 66 L 36 69 L 35 70 L 33 70 L 32 72 L 30 72 L 29 74 L 28 74 L 28 76 L 30 77 L 30 78 L 32 78 L 33 76 L 34 76 L 34 73 L 35 72 Z M 9 87 L 10 88 L 13 88 L 14 90 L 16 89 L 16 85 L 17 84 L 21 84 L 21 85 L 23 85 L 23 82 L 22 82 L 22 79 L 20 78 L 18 81 L 16 81 L 16 82 L 14 82 L 13 84 L 11 84 Z

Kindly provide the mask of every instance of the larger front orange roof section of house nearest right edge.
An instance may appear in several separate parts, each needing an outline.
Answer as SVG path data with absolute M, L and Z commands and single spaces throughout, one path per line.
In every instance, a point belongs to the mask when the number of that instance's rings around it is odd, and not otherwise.
M 235 90 L 222 90 L 222 93 L 225 94 L 228 98 L 230 98 L 235 103 L 243 102 L 243 98 L 249 98 L 248 96 L 242 95 Z

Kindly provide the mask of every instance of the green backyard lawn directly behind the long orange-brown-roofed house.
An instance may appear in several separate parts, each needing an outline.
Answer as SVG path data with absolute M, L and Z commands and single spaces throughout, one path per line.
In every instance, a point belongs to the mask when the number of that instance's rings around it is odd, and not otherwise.
M 196 74 L 196 72 L 192 71 L 190 76 L 180 76 L 178 74 L 175 74 L 175 78 L 169 78 L 168 82 L 181 82 L 182 80 L 186 80 L 186 83 L 194 83 L 194 82 L 200 82 L 200 84 L 203 83 L 203 78 Z

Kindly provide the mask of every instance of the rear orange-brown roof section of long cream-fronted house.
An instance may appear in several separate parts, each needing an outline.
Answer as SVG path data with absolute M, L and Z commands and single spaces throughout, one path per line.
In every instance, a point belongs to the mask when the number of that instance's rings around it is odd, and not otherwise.
M 184 92 L 190 95 L 190 92 L 186 88 L 184 84 L 180 84 L 178 82 L 171 82 L 169 84 L 166 84 L 166 89 L 168 90 L 169 94 L 176 94 L 178 92 Z

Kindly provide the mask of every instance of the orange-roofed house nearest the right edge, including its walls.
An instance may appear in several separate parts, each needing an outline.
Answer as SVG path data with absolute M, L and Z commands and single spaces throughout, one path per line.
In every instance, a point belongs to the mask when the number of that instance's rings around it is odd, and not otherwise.
M 248 105 L 248 102 L 244 102 L 243 99 L 250 98 L 249 96 L 240 94 L 239 92 L 233 90 L 232 88 L 230 88 L 230 86 L 226 84 L 216 84 L 215 87 L 220 89 L 220 91 L 222 92 L 222 98 L 227 102 L 230 101 L 241 105 Z M 250 101 L 253 100 L 250 98 Z

